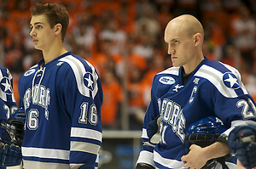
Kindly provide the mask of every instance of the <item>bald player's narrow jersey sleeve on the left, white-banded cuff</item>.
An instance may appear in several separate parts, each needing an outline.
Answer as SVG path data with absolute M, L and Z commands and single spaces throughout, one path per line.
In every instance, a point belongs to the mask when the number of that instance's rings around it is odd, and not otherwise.
M 154 119 L 157 118 L 158 115 L 160 115 L 158 105 L 157 105 L 158 102 L 156 100 L 156 91 L 155 91 L 156 87 L 157 85 L 154 78 L 153 85 L 151 88 L 151 101 L 150 101 L 150 104 L 148 105 L 148 109 L 143 121 L 143 134 L 142 134 L 143 147 L 137 160 L 137 163 L 146 163 L 151 166 L 154 166 L 154 155 L 153 155 L 154 144 L 149 144 L 149 138 L 147 135 L 147 125 L 148 125 L 148 122 L 154 121 Z

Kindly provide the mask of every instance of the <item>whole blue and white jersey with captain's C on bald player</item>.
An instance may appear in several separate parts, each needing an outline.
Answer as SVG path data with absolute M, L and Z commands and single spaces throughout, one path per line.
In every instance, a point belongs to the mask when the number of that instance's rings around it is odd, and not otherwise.
M 148 163 L 160 169 L 183 168 L 185 133 L 193 122 L 207 116 L 217 116 L 228 128 L 243 120 L 255 121 L 255 103 L 235 68 L 205 58 L 185 85 L 182 74 L 182 67 L 172 67 L 154 76 L 151 102 L 143 123 L 145 144 L 137 163 Z M 154 147 L 147 144 L 146 127 L 158 115 L 161 118 L 160 143 Z M 229 132 L 230 129 L 224 134 Z M 236 168 L 235 160 L 226 162 L 227 166 Z

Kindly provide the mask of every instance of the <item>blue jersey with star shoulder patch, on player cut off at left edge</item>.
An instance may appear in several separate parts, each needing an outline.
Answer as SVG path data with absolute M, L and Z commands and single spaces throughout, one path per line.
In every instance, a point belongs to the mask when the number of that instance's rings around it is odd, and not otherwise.
M 13 93 L 13 77 L 0 65 L 0 121 L 7 120 L 17 110 Z

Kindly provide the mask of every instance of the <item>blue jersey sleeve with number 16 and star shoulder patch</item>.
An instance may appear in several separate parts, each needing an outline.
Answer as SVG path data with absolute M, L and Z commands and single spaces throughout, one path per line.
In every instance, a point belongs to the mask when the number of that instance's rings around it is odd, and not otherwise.
M 102 144 L 102 85 L 96 70 L 89 63 L 74 60 L 63 67 L 60 93 L 72 119 L 70 131 L 70 165 L 97 166 Z

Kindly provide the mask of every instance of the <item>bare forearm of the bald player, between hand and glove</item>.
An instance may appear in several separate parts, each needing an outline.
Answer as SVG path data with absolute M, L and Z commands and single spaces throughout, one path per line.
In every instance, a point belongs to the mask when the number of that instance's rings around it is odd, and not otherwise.
M 222 142 L 215 142 L 203 149 L 206 152 L 205 155 L 208 160 L 230 154 L 228 144 L 224 144 Z

